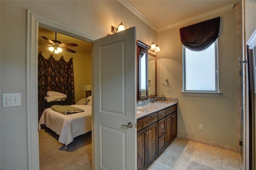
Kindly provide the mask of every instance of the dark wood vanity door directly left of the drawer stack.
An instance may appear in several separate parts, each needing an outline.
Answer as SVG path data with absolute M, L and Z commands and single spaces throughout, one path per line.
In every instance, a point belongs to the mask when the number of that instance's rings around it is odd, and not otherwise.
M 147 128 L 147 166 L 149 166 L 158 156 L 158 122 Z

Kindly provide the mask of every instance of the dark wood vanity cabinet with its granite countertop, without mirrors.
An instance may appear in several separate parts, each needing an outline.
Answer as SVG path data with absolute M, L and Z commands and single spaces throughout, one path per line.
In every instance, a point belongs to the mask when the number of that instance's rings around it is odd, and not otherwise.
M 144 170 L 177 136 L 177 102 L 137 106 L 137 168 Z

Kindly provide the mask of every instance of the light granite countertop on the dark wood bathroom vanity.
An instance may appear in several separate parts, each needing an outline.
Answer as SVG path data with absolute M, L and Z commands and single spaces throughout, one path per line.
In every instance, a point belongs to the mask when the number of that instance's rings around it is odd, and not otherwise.
M 158 101 L 154 103 L 148 103 L 143 106 L 137 106 L 137 119 L 147 116 L 151 113 L 157 112 L 164 108 L 168 108 L 177 104 L 177 102 L 169 102 L 169 101 Z

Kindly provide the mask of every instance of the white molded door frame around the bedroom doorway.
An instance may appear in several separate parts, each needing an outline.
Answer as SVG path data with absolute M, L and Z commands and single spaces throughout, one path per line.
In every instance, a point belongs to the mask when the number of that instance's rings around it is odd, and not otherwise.
M 28 10 L 27 21 L 27 129 L 28 129 L 28 170 L 39 170 L 38 142 L 38 28 L 59 32 L 83 41 L 93 43 L 99 37 L 69 26 L 42 14 Z M 93 49 L 92 49 L 93 50 Z M 93 111 L 92 111 L 92 130 Z M 92 141 L 93 142 L 93 141 Z M 93 145 L 94 146 L 94 145 Z M 94 148 L 92 147 L 92 153 Z M 94 162 L 94 155 L 92 155 Z M 94 165 L 94 163 L 92 163 Z

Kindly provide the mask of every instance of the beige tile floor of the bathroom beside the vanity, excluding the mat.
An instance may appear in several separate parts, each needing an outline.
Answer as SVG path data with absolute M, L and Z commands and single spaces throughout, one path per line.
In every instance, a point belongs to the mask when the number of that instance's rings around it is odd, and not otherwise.
M 147 170 L 186 170 L 191 161 L 216 170 L 243 169 L 243 161 L 239 153 L 175 138 Z

